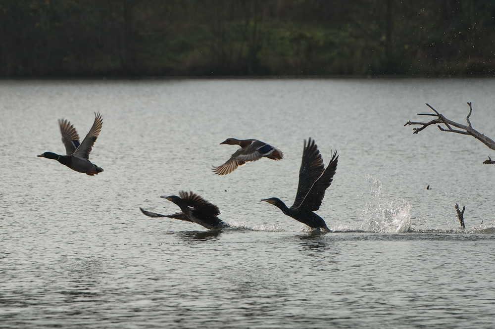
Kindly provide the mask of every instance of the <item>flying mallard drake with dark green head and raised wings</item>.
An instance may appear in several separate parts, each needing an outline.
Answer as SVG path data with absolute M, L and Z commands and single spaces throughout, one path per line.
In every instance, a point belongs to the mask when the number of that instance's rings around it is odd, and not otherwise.
M 91 163 L 89 160 L 91 149 L 98 138 L 99 132 L 101 131 L 101 126 L 103 124 L 101 115 L 95 112 L 95 122 L 93 123 L 93 127 L 91 127 L 90 132 L 81 143 L 79 142 L 79 135 L 77 134 L 76 129 L 68 120 L 58 119 L 58 124 L 60 125 L 62 142 L 65 145 L 67 155 L 45 152 L 38 156 L 57 160 L 70 169 L 80 173 L 85 173 L 89 176 L 98 175 L 98 173 L 102 172 L 103 169 Z

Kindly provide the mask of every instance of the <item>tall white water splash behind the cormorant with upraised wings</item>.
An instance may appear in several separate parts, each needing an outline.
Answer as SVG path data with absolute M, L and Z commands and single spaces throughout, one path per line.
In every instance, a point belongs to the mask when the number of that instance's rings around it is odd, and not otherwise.
M 405 200 L 396 200 L 382 191 L 382 182 L 372 181 L 370 199 L 366 202 L 361 218 L 364 221 L 360 229 L 376 233 L 406 233 L 411 230 L 411 205 Z

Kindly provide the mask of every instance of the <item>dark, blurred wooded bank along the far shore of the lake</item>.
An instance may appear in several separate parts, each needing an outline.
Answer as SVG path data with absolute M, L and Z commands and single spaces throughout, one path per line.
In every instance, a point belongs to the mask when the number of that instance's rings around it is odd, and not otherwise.
M 0 76 L 495 73 L 492 0 L 0 0 Z

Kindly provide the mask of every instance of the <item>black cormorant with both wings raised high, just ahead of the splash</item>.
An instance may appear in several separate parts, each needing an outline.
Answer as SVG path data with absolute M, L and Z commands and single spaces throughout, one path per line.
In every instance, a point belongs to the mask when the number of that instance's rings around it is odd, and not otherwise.
M 261 199 L 261 201 L 277 206 L 284 214 L 310 228 L 330 232 L 325 221 L 313 211 L 320 208 L 325 190 L 330 186 L 335 175 L 338 159 L 336 150 L 327 169 L 325 169 L 320 151 L 314 140 L 309 138 L 307 145 L 306 140 L 304 140 L 301 168 L 299 169 L 299 186 L 292 207 L 288 208 L 284 202 L 276 197 Z

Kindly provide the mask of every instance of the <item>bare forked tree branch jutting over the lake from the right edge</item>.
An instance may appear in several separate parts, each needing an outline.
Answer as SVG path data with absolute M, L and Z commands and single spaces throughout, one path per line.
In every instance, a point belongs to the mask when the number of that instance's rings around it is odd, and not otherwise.
M 448 120 L 445 116 L 443 116 L 436 109 L 434 109 L 432 106 L 430 106 L 430 104 L 427 103 L 426 105 L 429 108 L 431 108 L 436 114 L 418 113 L 418 115 L 435 116 L 438 119 L 432 120 L 430 122 L 412 122 L 410 120 L 407 120 L 404 127 L 409 126 L 409 125 L 422 125 L 423 127 L 421 127 L 421 128 L 413 128 L 413 130 L 414 130 L 413 134 L 417 134 L 428 126 L 438 124 L 438 128 L 443 132 L 450 132 L 450 133 L 456 133 L 456 134 L 461 134 L 461 135 L 470 135 L 470 136 L 474 137 L 475 139 L 477 139 L 478 141 L 481 141 L 482 143 L 487 145 L 490 149 L 495 150 L 495 141 L 486 137 L 484 134 L 480 134 L 478 131 L 474 130 L 473 127 L 471 126 L 471 122 L 469 121 L 469 117 L 471 116 L 471 113 L 473 112 L 473 107 L 472 107 L 471 102 L 468 102 L 467 104 L 469 105 L 469 114 L 466 117 L 466 121 L 468 124 L 467 126 L 461 125 L 460 123 L 457 123 L 457 122 L 454 122 L 451 120 Z M 442 128 L 440 126 L 442 124 L 445 125 L 447 128 L 446 129 Z M 459 128 L 460 130 L 452 129 L 451 126 L 453 126 L 455 128 Z M 495 161 L 492 161 L 492 159 L 490 157 L 488 157 L 488 158 L 490 160 L 486 160 L 485 162 L 483 162 L 484 164 L 495 164 Z

